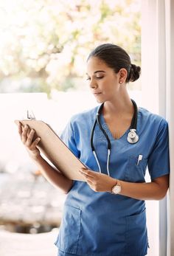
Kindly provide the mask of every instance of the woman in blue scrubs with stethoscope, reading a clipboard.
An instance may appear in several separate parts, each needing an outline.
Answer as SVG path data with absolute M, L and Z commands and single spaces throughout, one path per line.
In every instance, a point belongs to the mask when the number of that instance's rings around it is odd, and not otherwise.
M 18 127 L 46 179 L 67 193 L 55 241 L 59 256 L 147 255 L 145 200 L 164 198 L 170 164 L 167 121 L 129 97 L 127 83 L 139 73 L 114 44 L 97 46 L 88 56 L 88 85 L 100 105 L 75 114 L 61 135 L 88 166 L 79 170 L 86 182 L 71 181 L 50 166 L 38 151 L 39 139 L 32 142 L 35 131 Z

